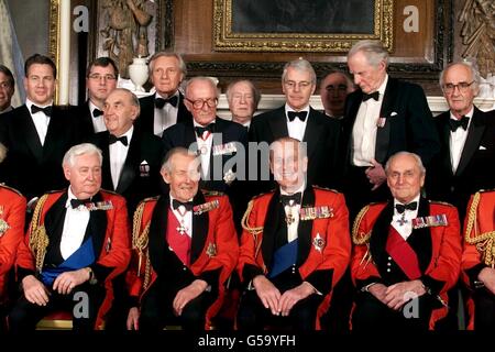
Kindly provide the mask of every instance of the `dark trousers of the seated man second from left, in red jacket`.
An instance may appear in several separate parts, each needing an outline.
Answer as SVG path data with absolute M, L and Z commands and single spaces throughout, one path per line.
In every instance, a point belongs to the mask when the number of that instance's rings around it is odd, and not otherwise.
M 206 312 L 217 299 L 218 292 L 204 292 L 190 300 L 178 317 L 173 311 L 177 292 L 177 288 L 160 282 L 160 278 L 150 287 L 141 304 L 140 330 L 163 330 L 167 324 L 179 324 L 184 330 L 190 331 L 205 330 Z

